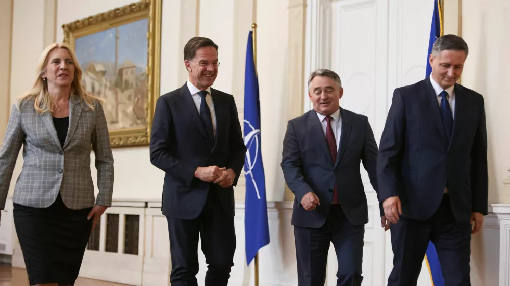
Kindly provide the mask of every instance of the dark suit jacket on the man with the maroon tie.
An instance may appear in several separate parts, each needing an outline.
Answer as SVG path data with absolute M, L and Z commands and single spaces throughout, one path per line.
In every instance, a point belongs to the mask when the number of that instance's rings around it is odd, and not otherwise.
M 304 113 L 287 125 L 281 166 L 285 181 L 295 195 L 291 221 L 294 226 L 319 228 L 324 224 L 333 201 L 335 182 L 347 219 L 354 225 L 368 222 L 360 160 L 377 191 L 377 144 L 366 116 L 342 108 L 340 115 L 342 131 L 335 163 L 316 111 Z M 314 192 L 320 201 L 320 206 L 312 211 L 301 205 L 301 199 L 308 192 Z

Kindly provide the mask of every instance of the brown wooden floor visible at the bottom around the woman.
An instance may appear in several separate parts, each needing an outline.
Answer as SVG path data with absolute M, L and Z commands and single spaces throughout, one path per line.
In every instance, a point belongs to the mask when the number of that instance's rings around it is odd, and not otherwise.
M 20 268 L 12 268 L 9 265 L 0 264 L 0 286 L 28 286 L 29 279 L 27 271 Z M 104 282 L 99 280 L 78 278 L 74 286 L 123 286 L 125 284 L 117 284 Z

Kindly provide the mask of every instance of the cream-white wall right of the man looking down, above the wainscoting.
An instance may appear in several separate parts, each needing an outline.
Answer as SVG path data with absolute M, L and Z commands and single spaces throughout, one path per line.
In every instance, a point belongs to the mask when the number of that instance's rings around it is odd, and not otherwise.
M 463 1 L 462 37 L 469 55 L 462 84 L 485 99 L 489 163 L 489 203 L 510 203 L 502 184 L 510 167 L 510 2 Z M 504 130 L 504 131 L 503 131 Z

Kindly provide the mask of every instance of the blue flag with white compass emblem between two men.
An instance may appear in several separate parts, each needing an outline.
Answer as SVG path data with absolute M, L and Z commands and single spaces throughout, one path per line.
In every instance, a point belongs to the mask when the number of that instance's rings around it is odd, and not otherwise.
M 267 220 L 266 180 L 262 164 L 260 136 L 259 80 L 253 57 L 252 31 L 246 46 L 246 71 L 244 75 L 244 144 L 246 159 L 246 198 L 244 228 L 246 237 L 246 263 L 255 258 L 263 246 L 269 244 Z

